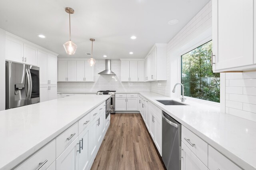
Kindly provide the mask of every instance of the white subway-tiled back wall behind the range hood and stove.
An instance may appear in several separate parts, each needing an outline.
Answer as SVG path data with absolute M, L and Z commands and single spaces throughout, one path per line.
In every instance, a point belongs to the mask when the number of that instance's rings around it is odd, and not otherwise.
M 80 91 L 150 91 L 149 82 L 121 82 L 121 61 L 111 60 L 111 70 L 115 76 L 99 75 L 105 70 L 105 60 L 97 60 L 95 64 L 95 82 L 58 82 L 58 92 L 80 92 Z

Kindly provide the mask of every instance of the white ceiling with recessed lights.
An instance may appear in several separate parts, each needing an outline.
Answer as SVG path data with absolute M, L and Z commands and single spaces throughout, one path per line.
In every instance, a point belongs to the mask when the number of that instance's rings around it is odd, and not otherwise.
M 59 54 L 89 58 L 90 38 L 96 59 L 144 58 L 154 43 L 167 43 L 209 0 L 1 0 L 0 28 Z M 68 14 L 71 40 L 78 46 L 67 55 Z M 168 25 L 178 19 L 176 25 Z M 46 38 L 38 38 L 43 34 Z M 136 36 L 136 40 L 130 39 Z M 134 52 L 130 55 L 129 52 Z M 108 57 L 104 58 L 103 55 Z

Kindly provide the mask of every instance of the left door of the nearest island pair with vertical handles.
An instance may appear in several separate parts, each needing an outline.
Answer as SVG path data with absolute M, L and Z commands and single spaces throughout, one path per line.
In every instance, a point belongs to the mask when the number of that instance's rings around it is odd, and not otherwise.
M 78 137 L 56 159 L 56 170 L 78 170 Z

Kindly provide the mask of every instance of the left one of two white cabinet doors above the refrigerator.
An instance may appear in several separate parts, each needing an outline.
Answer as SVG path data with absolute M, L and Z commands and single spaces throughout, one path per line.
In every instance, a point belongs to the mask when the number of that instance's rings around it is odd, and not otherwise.
M 5 59 L 22 63 L 23 42 L 6 35 Z

